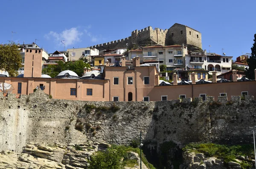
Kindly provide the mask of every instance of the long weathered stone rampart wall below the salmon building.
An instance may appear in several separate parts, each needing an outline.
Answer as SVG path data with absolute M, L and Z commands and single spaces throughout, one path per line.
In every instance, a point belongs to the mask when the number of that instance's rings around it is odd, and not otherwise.
M 29 142 L 84 143 L 87 140 L 127 144 L 143 133 L 143 141 L 172 140 L 247 143 L 256 120 L 253 97 L 207 97 L 158 102 L 95 102 L 49 99 L 0 93 L 0 149 L 21 151 Z

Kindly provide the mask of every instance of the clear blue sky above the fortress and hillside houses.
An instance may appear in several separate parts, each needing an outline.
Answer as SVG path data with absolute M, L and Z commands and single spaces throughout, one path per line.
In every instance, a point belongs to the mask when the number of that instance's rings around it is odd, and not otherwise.
M 203 49 L 238 57 L 251 52 L 256 0 L 4 0 L 0 43 L 32 43 L 49 53 L 119 40 L 147 26 L 184 24 L 202 34 Z

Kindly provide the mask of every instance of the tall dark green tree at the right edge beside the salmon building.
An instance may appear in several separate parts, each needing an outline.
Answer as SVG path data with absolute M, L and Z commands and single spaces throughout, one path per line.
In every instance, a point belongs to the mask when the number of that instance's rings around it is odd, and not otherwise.
M 256 34 L 254 34 L 254 43 L 253 47 L 251 47 L 252 55 L 247 59 L 247 64 L 249 69 L 245 69 L 245 76 L 248 79 L 255 79 L 254 69 L 256 69 Z

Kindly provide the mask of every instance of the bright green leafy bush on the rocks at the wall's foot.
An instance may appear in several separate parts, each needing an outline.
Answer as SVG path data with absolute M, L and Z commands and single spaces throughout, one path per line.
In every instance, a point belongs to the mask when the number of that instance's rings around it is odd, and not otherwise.
M 105 152 L 98 152 L 91 156 L 90 166 L 88 169 L 123 169 L 128 152 L 122 148 L 109 148 Z

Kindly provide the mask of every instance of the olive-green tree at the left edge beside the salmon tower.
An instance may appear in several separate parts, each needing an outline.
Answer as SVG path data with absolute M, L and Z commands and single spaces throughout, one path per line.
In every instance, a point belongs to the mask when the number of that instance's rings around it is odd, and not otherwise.
M 6 69 L 11 77 L 17 76 L 21 67 L 22 58 L 18 48 L 15 43 L 0 46 L 0 69 Z

